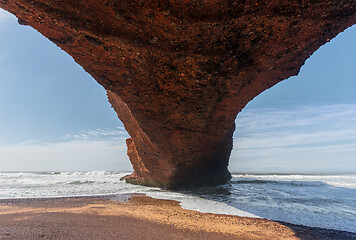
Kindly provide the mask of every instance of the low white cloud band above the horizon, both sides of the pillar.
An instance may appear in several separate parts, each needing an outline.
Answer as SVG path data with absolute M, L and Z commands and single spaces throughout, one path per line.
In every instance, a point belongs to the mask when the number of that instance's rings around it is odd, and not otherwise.
M 356 171 L 356 104 L 244 110 L 231 171 Z M 122 128 L 0 147 L 0 171 L 131 170 Z

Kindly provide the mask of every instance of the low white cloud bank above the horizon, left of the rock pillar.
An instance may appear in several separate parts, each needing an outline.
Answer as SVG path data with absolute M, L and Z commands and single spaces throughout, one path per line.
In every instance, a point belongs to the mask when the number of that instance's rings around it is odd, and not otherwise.
M 97 129 L 56 143 L 31 140 L 1 146 L 0 171 L 130 171 L 124 134 L 122 128 Z

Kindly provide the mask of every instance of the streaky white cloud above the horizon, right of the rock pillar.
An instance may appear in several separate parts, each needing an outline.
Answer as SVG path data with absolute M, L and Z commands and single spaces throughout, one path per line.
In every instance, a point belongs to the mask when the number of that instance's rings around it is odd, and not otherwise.
M 232 171 L 356 171 L 356 104 L 253 109 L 237 120 Z

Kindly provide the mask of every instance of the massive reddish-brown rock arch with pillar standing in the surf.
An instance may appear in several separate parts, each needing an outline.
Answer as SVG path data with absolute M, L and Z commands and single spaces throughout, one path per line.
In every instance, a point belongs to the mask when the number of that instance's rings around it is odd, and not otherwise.
M 0 0 L 106 90 L 131 138 L 126 180 L 225 183 L 234 120 L 356 23 L 354 0 Z

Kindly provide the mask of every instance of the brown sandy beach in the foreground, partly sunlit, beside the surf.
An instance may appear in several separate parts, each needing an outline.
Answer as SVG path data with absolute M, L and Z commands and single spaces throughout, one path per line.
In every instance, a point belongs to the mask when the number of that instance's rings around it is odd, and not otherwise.
M 0 239 L 356 239 L 266 219 L 199 213 L 143 195 L 0 200 Z

